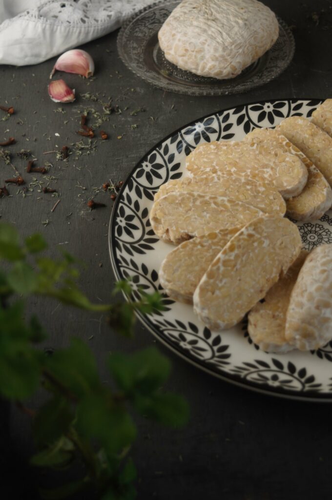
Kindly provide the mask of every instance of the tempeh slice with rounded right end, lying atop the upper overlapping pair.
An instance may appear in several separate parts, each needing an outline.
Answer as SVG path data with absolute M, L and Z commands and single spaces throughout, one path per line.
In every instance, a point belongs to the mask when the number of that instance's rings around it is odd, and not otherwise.
M 214 173 L 232 174 L 265 183 L 283 198 L 296 196 L 303 189 L 307 170 L 296 156 L 268 152 L 262 156 L 245 141 L 214 141 L 197 146 L 186 158 L 191 177 Z

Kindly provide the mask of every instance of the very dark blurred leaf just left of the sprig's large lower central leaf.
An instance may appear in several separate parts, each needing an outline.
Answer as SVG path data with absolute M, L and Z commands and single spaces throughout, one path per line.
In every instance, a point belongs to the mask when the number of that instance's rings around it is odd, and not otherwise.
M 64 434 L 73 415 L 64 397 L 54 395 L 39 408 L 32 425 L 33 436 L 38 445 L 51 443 Z

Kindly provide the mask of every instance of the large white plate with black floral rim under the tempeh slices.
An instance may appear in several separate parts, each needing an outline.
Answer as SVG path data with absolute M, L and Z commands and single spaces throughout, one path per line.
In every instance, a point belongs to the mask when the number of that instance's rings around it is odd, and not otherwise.
M 117 278 L 139 287 L 162 288 L 158 269 L 173 248 L 151 229 L 149 210 L 161 184 L 184 175 L 185 157 L 198 144 L 241 139 L 254 127 L 273 127 L 286 116 L 309 117 L 321 101 L 285 99 L 254 102 L 204 116 L 162 139 L 133 168 L 113 207 L 109 247 Z M 332 210 L 314 222 L 297 223 L 303 248 L 332 243 Z M 192 306 L 166 295 L 165 311 L 140 315 L 141 322 L 168 347 L 196 366 L 238 385 L 283 397 L 332 401 L 332 341 L 312 352 L 268 354 L 254 345 L 245 320 L 229 330 L 210 331 Z

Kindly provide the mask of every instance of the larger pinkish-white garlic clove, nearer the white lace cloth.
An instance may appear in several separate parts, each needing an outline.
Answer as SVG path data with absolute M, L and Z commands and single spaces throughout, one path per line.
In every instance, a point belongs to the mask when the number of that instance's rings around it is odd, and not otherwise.
M 67 73 L 81 74 L 88 78 L 94 73 L 94 62 L 92 57 L 85 52 L 85 50 L 74 48 L 73 50 L 67 50 L 58 57 L 49 75 L 50 78 L 53 76 L 56 69 Z

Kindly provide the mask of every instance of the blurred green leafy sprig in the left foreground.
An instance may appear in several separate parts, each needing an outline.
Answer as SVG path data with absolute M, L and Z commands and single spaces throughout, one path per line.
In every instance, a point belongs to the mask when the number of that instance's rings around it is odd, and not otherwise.
M 101 380 L 85 342 L 72 338 L 67 348 L 46 355 L 39 344 L 46 332 L 35 316 L 24 315 L 24 300 L 40 295 L 89 311 L 102 311 L 121 334 L 132 335 L 134 311 L 162 309 L 158 293 L 141 293 L 135 302 L 94 304 L 77 287 L 77 263 L 68 253 L 52 260 L 40 256 L 46 248 L 34 234 L 20 243 L 11 226 L 0 223 L 0 395 L 32 418 L 36 453 L 31 464 L 62 470 L 76 460 L 84 463 L 80 480 L 41 490 L 44 498 L 65 498 L 89 487 L 100 500 L 135 497 L 135 466 L 128 457 L 137 429 L 132 410 L 162 424 L 177 427 L 188 417 L 186 402 L 162 390 L 170 364 L 154 347 L 133 354 L 112 353 L 106 365 L 112 384 Z M 128 297 L 130 283 L 119 281 L 114 294 Z M 20 295 L 20 298 L 17 297 Z M 46 402 L 26 406 L 40 388 Z

